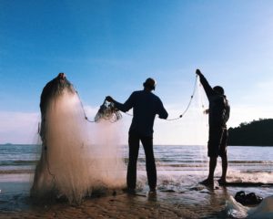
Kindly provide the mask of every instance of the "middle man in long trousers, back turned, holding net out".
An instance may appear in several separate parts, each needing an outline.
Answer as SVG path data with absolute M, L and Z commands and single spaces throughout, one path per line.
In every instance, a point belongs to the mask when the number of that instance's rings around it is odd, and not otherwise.
M 143 83 L 144 89 L 134 91 L 124 104 L 110 96 L 106 100 L 113 102 L 118 110 L 126 112 L 133 108 L 133 120 L 129 129 L 129 162 L 127 167 L 127 190 L 134 193 L 136 189 L 136 162 L 139 151 L 139 141 L 142 142 L 146 154 L 147 180 L 150 192 L 156 192 L 157 168 L 153 151 L 153 127 L 158 114 L 160 119 L 167 119 L 161 100 L 152 93 L 156 89 L 156 81 L 147 78 Z

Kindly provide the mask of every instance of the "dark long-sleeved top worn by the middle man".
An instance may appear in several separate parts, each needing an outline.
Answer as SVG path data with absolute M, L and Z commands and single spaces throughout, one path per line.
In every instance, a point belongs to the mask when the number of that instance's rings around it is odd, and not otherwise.
M 126 112 L 133 108 L 133 120 L 130 131 L 136 131 L 144 136 L 153 135 L 154 120 L 158 114 L 160 119 L 167 119 L 162 101 L 147 90 L 134 91 L 124 104 L 114 101 L 118 110 Z

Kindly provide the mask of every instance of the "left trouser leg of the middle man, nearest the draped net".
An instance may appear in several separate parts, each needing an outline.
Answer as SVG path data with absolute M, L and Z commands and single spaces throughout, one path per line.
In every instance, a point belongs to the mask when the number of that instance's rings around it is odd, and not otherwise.
M 127 189 L 136 189 L 136 162 L 139 150 L 139 137 L 136 133 L 129 133 L 129 162 L 127 167 Z

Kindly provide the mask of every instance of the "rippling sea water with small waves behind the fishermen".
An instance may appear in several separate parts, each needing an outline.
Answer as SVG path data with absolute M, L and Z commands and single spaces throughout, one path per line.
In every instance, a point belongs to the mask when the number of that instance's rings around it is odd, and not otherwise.
M 128 160 L 128 148 L 122 146 L 125 163 Z M 204 176 L 207 174 L 207 147 L 197 145 L 155 145 L 154 152 L 159 175 L 171 173 L 181 175 Z M 0 182 L 5 174 L 32 174 L 40 159 L 41 145 L 2 144 L 0 145 Z M 236 178 L 238 173 L 249 180 L 273 183 L 273 147 L 229 146 L 227 147 L 229 178 Z M 217 174 L 220 172 L 218 159 Z M 145 172 L 145 154 L 142 147 L 138 156 L 138 173 Z M 229 173 L 229 174 L 228 174 Z M 230 175 L 230 173 L 234 175 Z M 254 176 L 254 173 L 256 176 Z M 258 175 L 264 178 L 256 179 Z M 252 178 L 251 178 L 252 177 Z M 239 176 L 238 176 L 239 178 Z M 255 179 L 254 179 L 255 178 Z M 29 179 L 27 179 L 29 180 Z

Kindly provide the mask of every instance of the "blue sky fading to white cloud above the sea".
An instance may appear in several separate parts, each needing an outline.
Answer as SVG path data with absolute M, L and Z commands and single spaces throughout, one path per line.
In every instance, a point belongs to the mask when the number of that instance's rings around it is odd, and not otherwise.
M 156 78 L 175 118 L 200 68 L 226 90 L 229 126 L 272 118 L 272 8 L 269 0 L 0 0 L 0 143 L 33 141 L 41 91 L 59 72 L 90 111 L 106 95 L 123 102 Z M 196 118 L 156 120 L 155 142 L 188 143 Z

